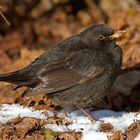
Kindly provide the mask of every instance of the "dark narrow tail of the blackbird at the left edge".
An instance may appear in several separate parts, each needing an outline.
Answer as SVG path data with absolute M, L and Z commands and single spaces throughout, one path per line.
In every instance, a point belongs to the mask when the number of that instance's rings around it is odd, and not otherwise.
M 38 82 L 38 79 L 30 75 L 28 71 L 14 71 L 11 73 L 1 74 L 0 81 L 16 84 L 17 86 L 28 86 L 34 87 L 34 85 Z

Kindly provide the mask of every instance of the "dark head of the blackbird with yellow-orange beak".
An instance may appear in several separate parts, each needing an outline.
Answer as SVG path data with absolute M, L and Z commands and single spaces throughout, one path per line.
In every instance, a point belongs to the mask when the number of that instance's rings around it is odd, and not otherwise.
M 124 30 L 116 31 L 106 24 L 92 25 L 79 34 L 82 41 L 90 48 L 106 49 L 116 46 L 116 39 L 125 33 Z

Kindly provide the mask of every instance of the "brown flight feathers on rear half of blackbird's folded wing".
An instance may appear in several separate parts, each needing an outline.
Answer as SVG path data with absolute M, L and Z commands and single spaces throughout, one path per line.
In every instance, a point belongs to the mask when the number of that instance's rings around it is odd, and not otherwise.
M 45 89 L 47 93 L 57 92 L 77 85 L 82 77 L 67 67 L 63 61 L 56 60 L 39 73 L 38 79 L 41 82 L 38 87 Z

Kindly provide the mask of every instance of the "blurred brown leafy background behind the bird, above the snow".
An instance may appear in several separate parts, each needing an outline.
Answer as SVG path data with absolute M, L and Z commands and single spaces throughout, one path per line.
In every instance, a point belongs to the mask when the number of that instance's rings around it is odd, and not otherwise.
M 95 108 L 139 110 L 140 1 L 139 0 L 0 0 L 0 73 L 20 69 L 53 44 L 91 24 L 125 29 L 118 40 L 123 49 L 122 72 L 108 96 Z M 46 95 L 23 98 L 27 88 L 0 83 L 0 104 L 34 107 L 52 105 Z

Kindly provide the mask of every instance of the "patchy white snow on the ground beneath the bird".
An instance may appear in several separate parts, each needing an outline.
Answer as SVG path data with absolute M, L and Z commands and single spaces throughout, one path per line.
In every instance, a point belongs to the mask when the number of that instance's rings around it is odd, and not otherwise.
M 0 107 L 0 122 L 6 123 L 8 120 L 17 117 L 20 115 L 21 117 L 34 117 L 40 119 L 47 119 L 53 114 L 49 111 L 48 115 L 45 116 L 43 112 L 46 110 L 34 110 L 31 107 L 23 107 L 19 104 L 3 104 Z M 64 112 L 67 112 L 67 116 Z M 114 129 L 121 130 L 123 133 L 126 128 L 132 124 L 135 120 L 140 120 L 140 114 L 132 113 L 132 112 L 114 112 L 111 110 L 98 110 L 91 112 L 91 114 L 98 119 L 98 121 L 93 124 L 82 112 L 79 110 L 62 110 L 59 113 L 59 116 L 70 120 L 72 124 L 67 127 L 64 125 L 56 125 L 56 124 L 47 124 L 45 128 L 51 128 L 56 132 L 64 132 L 70 130 L 80 131 L 82 132 L 82 140 L 107 140 L 107 136 L 111 135 L 111 133 L 99 132 L 99 127 L 101 121 L 109 122 L 114 126 Z M 139 140 L 140 135 L 135 138 L 135 140 Z

